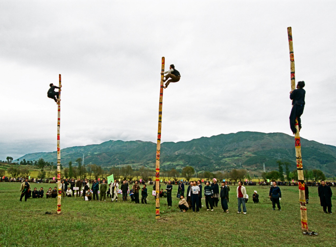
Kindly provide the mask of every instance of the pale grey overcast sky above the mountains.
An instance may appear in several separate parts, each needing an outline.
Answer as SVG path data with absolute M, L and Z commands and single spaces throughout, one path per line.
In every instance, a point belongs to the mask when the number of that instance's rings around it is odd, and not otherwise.
M 336 146 L 335 0 L 2 0 L 0 160 L 56 151 L 59 74 L 61 148 L 156 143 L 162 56 L 162 142 L 291 134 L 289 26 L 301 136 Z

